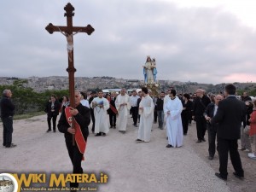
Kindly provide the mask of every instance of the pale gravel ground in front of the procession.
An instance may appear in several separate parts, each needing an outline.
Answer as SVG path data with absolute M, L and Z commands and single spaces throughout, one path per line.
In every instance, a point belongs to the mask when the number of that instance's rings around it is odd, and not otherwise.
M 256 160 L 248 159 L 246 153 L 241 152 L 245 179 L 232 176 L 229 162 L 230 177 L 224 182 L 214 176 L 218 172 L 218 154 L 214 160 L 207 160 L 207 142 L 195 143 L 195 125 L 189 126 L 181 148 L 166 148 L 166 131 L 157 126 L 154 124 L 150 143 L 135 143 L 138 128 L 132 126 L 130 116 L 125 134 L 114 129 L 107 137 L 90 133 L 84 172 L 105 172 L 109 177 L 108 183 L 96 185 L 97 191 L 256 191 Z M 72 172 L 63 134 L 45 132 L 45 115 L 16 120 L 14 129 L 13 142 L 18 146 L 0 147 L 0 172 Z

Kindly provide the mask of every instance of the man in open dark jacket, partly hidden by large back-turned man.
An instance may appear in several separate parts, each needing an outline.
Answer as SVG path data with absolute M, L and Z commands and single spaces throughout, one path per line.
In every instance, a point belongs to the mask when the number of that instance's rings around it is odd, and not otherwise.
M 207 131 L 208 131 L 208 143 L 209 143 L 209 160 L 213 160 L 215 151 L 216 151 L 216 145 L 215 145 L 215 140 L 216 140 L 216 134 L 217 134 L 217 127 L 218 124 L 210 124 L 209 120 L 212 119 L 217 113 L 218 110 L 218 102 L 223 100 L 223 96 L 217 95 L 214 96 L 214 103 L 210 103 L 207 105 L 206 111 L 204 113 L 204 116 L 208 122 L 207 124 Z

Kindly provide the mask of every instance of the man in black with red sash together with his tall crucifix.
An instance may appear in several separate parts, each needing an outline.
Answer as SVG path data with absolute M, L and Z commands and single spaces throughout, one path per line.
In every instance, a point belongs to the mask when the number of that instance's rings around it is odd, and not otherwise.
M 68 154 L 73 163 L 73 173 L 83 173 L 81 160 L 84 159 L 86 140 L 89 135 L 90 109 L 80 103 L 81 95 L 79 91 L 74 90 L 74 73 L 76 69 L 73 64 L 73 35 L 78 32 L 86 32 L 90 35 L 94 32 L 94 28 L 90 25 L 73 26 L 74 8 L 71 3 L 67 3 L 64 10 L 66 10 L 64 16 L 67 16 L 67 26 L 54 26 L 49 23 L 45 29 L 50 34 L 61 32 L 67 38 L 70 107 L 65 108 L 65 113 L 61 113 L 58 129 L 65 134 Z M 72 191 L 76 191 L 74 188 L 78 186 L 79 183 L 77 182 L 70 183 Z

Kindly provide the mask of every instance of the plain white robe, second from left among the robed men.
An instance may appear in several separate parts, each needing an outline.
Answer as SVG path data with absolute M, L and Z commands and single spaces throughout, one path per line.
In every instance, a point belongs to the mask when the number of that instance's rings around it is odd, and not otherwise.
M 120 106 L 120 104 L 122 103 L 127 103 L 127 105 Z M 127 116 L 131 108 L 130 96 L 128 96 L 127 94 L 125 94 L 125 96 L 121 96 L 121 95 L 117 96 L 115 100 L 115 108 L 119 112 L 118 119 L 117 119 L 117 125 L 119 127 L 119 131 L 126 131 Z

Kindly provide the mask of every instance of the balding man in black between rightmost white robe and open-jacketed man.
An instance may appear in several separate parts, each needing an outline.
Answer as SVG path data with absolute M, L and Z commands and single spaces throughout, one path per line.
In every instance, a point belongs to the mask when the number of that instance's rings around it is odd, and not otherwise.
M 211 100 L 208 96 L 204 95 L 204 90 L 198 89 L 196 90 L 196 98 L 194 101 L 193 107 L 193 119 L 196 122 L 196 131 L 197 131 L 197 142 L 201 143 L 202 141 L 205 142 L 205 134 L 207 131 L 207 120 L 203 116 L 207 105 L 211 103 Z

